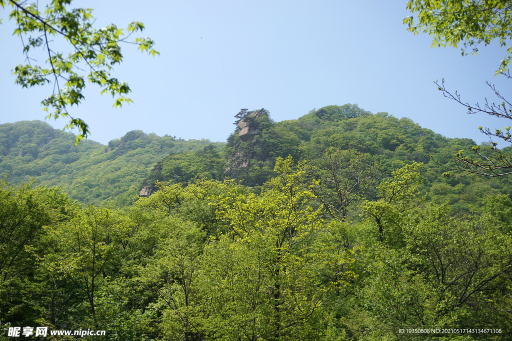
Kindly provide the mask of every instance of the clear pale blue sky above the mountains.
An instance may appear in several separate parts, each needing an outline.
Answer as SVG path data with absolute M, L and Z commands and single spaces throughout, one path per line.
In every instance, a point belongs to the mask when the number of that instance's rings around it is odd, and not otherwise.
M 505 77 L 494 76 L 505 49 L 493 44 L 466 57 L 454 48 L 431 49 L 428 35 L 413 36 L 402 24 L 410 14 L 406 3 L 77 0 L 73 7 L 94 9 L 98 28 L 142 21 L 147 29 L 142 36 L 155 40 L 161 55 L 153 58 L 124 46 L 125 59 L 115 75 L 130 84 L 134 103 L 114 109 L 112 97 L 100 96 L 90 85 L 86 100 L 70 113 L 89 124 L 90 139 L 103 144 L 135 129 L 225 141 L 241 108 L 265 108 L 282 121 L 346 103 L 477 143 L 488 141 L 478 126 L 511 125 L 467 115 L 433 83 L 444 78 L 464 102 L 482 103 L 485 97 L 497 100 L 488 80 L 512 99 Z M 10 11 L 0 8 L 0 124 L 44 120 L 40 101 L 52 86 L 14 84 L 12 69 L 24 55 L 19 38 L 12 36 Z M 67 120 L 47 122 L 62 128 Z

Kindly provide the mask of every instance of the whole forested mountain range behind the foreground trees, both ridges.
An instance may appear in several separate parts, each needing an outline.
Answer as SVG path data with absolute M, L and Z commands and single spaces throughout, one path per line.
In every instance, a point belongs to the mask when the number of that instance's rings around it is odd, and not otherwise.
M 85 204 L 110 200 L 122 207 L 138 194 L 154 193 L 156 181 L 186 185 L 195 178 L 229 176 L 259 191 L 275 175 L 278 157 L 320 160 L 329 147 L 357 147 L 378 164 L 380 179 L 412 161 L 422 162 L 422 190 L 428 200 L 449 202 L 454 212 L 469 213 L 470 206 L 480 206 L 487 195 L 512 195 L 508 177 L 458 177 L 460 172 L 443 177 L 447 169 L 441 165 L 449 167 L 455 153 L 471 150 L 476 143 L 447 139 L 410 119 L 386 112 L 372 114 L 356 104 L 331 105 L 277 123 L 269 114 L 265 109 L 246 111 L 244 119 L 254 118 L 250 132 L 244 132 L 242 141 L 236 122 L 227 143 L 184 141 L 134 130 L 108 146 L 92 140 L 75 146 L 73 134 L 41 121 L 4 124 L 0 126 L 0 176 L 8 174 L 12 185 L 33 178 L 38 185 L 61 186 Z

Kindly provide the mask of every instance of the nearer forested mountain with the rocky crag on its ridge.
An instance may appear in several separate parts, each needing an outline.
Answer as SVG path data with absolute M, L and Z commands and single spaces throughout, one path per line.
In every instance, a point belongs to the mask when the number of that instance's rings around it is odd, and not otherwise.
M 243 139 L 239 137 L 239 119 L 221 153 L 205 149 L 169 155 L 154 167 L 145 184 L 154 191 L 157 180 L 186 184 L 195 177 L 222 180 L 229 176 L 258 192 L 265 181 L 275 176 L 278 157 L 292 155 L 294 160 L 316 162 L 328 148 L 355 147 L 371 155 L 378 166 L 379 179 L 390 177 L 394 170 L 413 161 L 423 163 L 422 191 L 429 201 L 450 203 L 454 214 L 470 213 L 470 208 L 480 207 L 488 195 L 512 196 L 508 177 L 459 176 L 462 173 L 456 171 L 453 176 L 444 177 L 447 167 L 453 166 L 454 154 L 470 151 L 476 143 L 445 138 L 408 118 L 397 119 L 386 112 L 372 114 L 356 104 L 331 105 L 311 110 L 296 120 L 277 123 L 269 114 L 265 109 L 241 111 L 238 116 L 248 121 Z

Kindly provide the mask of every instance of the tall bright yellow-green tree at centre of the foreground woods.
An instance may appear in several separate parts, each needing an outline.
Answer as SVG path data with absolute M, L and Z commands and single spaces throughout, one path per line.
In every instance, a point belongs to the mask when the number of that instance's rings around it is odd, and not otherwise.
M 230 231 L 207 248 L 202 281 L 218 288 L 206 291 L 215 316 L 208 324 L 227 337 L 303 338 L 331 289 L 318 279 L 327 267 L 314 244 L 322 220 L 300 188 L 304 171 L 291 157 L 278 158 L 274 171 L 260 196 L 231 188 L 217 200 Z

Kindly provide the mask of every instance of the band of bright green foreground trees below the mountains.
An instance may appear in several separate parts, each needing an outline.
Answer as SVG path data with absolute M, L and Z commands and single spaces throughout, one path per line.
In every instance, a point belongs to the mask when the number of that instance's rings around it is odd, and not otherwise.
M 329 153 L 324 166 L 346 155 Z M 351 177 L 311 183 L 291 156 L 259 194 L 227 179 L 158 183 L 123 210 L 3 181 L 0 321 L 112 340 L 406 339 L 400 328 L 505 339 L 512 201 L 490 196 L 456 217 L 424 203 L 423 167 L 393 171 L 343 219 L 325 214 L 337 192 L 323 182 Z

